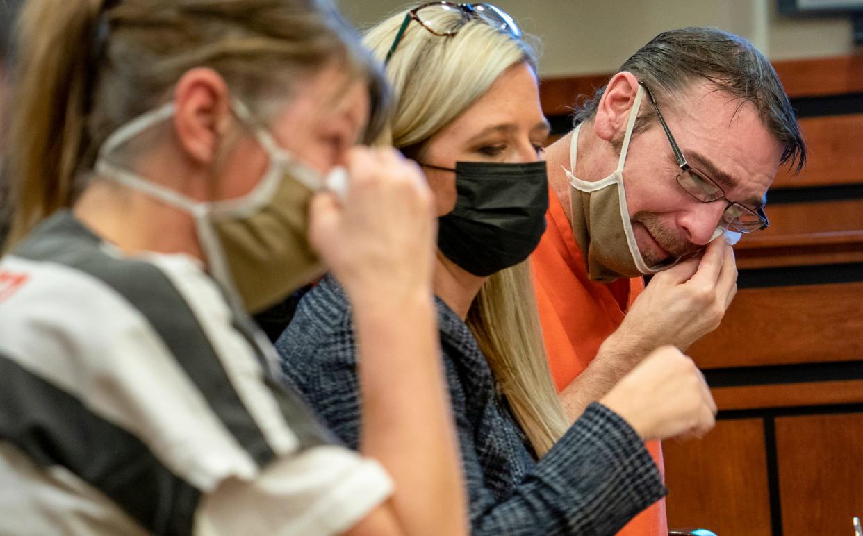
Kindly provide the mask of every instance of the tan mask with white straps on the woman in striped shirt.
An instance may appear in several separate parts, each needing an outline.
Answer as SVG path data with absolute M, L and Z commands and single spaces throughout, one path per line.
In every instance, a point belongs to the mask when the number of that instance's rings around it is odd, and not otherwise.
M 253 125 L 242 103 L 235 102 L 232 108 Z M 255 127 L 251 128 L 268 153 L 269 165 L 255 188 L 236 199 L 198 202 L 110 163 L 107 157 L 118 146 L 173 113 L 173 104 L 167 104 L 117 129 L 99 151 L 98 173 L 194 216 L 208 271 L 236 307 L 260 311 L 321 274 L 324 269 L 308 240 L 309 201 L 324 188 L 343 195 L 344 170 L 336 168 L 324 177 L 278 146 L 266 130 Z

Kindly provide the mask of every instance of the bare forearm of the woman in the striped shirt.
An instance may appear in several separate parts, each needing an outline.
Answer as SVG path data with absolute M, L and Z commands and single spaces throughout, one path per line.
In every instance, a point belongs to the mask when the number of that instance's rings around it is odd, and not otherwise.
M 362 392 L 360 450 L 393 477 L 392 504 L 406 533 L 467 533 L 431 290 L 352 301 Z

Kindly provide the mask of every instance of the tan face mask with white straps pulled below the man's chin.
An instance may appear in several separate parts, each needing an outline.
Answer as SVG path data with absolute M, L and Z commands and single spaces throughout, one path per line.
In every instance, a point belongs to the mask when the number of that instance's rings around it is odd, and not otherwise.
M 589 277 L 602 283 L 610 283 L 620 277 L 654 274 L 677 263 L 677 259 L 673 259 L 659 265 L 646 265 L 629 220 L 627 195 L 623 185 L 623 165 L 627 161 L 629 140 L 632 138 L 642 97 L 644 89 L 639 85 L 633 109 L 629 112 L 627 132 L 623 138 L 623 146 L 620 147 L 620 159 L 614 173 L 594 182 L 576 178 L 576 151 L 581 124 L 572 133 L 571 171 L 564 168 L 570 180 L 572 234 L 588 265 Z M 714 238 L 721 232 L 721 228 L 717 228 Z

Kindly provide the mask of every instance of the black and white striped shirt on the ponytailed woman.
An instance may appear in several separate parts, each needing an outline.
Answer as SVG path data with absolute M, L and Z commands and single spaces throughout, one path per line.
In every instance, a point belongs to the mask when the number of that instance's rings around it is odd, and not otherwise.
M 0 261 L 0 533 L 350 528 L 392 483 L 274 359 L 196 260 L 54 215 Z

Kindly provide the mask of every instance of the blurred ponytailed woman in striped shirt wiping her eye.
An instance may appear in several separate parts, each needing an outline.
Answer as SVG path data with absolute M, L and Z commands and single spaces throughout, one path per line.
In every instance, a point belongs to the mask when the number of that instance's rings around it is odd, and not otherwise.
M 0 533 L 466 533 L 431 195 L 350 148 L 386 95 L 331 6 L 33 0 L 21 33 Z M 278 388 L 246 313 L 318 255 L 369 365 L 360 453 Z

